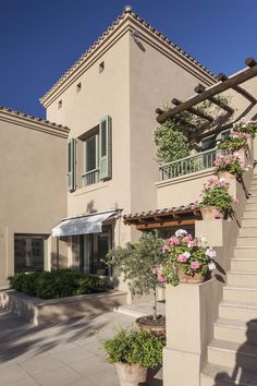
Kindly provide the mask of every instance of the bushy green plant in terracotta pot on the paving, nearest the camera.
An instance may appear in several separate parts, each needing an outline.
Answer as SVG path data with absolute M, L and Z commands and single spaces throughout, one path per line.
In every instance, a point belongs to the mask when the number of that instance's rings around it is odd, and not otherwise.
M 136 328 L 121 329 L 102 341 L 107 362 L 115 365 L 121 386 L 144 384 L 147 369 L 162 363 L 164 345 L 163 338 Z

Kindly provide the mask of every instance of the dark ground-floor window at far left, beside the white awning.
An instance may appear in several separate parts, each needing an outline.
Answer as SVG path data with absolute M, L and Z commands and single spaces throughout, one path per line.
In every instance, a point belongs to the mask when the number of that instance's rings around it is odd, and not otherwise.
M 14 234 L 14 272 L 44 269 L 45 236 Z

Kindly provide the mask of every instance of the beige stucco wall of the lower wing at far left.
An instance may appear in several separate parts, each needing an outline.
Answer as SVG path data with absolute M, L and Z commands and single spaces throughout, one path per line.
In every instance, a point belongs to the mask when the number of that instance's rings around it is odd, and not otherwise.
M 0 286 L 13 274 L 14 233 L 50 234 L 66 216 L 65 138 L 40 131 L 40 124 L 2 118 Z M 48 260 L 54 250 L 50 244 Z

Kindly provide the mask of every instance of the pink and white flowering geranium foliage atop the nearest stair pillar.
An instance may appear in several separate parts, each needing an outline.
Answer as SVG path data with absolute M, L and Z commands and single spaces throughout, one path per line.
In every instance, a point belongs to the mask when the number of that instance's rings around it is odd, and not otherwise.
M 206 275 L 216 269 L 216 252 L 206 246 L 205 238 L 194 239 L 184 229 L 179 229 L 162 248 L 163 262 L 152 268 L 160 282 L 178 285 L 178 272 L 192 277 L 195 274 Z

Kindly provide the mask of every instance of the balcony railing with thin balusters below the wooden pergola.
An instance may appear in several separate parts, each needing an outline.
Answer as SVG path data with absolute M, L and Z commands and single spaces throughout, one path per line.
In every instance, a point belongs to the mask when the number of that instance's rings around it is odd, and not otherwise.
M 162 165 L 160 167 L 161 180 L 194 173 L 195 171 L 205 170 L 213 167 L 213 161 L 221 150 L 211 148 L 209 150 L 198 153 L 175 161 Z

